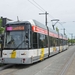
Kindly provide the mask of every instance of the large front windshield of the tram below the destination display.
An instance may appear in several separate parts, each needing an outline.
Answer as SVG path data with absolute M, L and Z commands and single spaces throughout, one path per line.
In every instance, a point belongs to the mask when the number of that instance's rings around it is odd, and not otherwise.
M 18 29 L 18 28 L 17 28 Z M 20 28 L 19 28 L 20 29 Z M 5 49 L 27 49 L 30 43 L 29 33 L 25 30 L 10 30 L 5 34 Z

